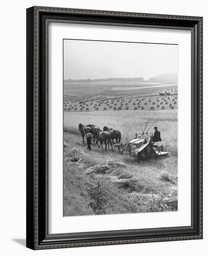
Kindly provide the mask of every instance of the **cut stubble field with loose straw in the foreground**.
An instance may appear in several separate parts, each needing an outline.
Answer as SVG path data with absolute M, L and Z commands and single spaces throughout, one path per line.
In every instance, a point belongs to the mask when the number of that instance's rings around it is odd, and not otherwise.
M 177 210 L 176 156 L 136 163 L 94 144 L 90 152 L 80 135 L 64 141 L 64 216 Z M 104 209 L 92 199 L 99 192 Z

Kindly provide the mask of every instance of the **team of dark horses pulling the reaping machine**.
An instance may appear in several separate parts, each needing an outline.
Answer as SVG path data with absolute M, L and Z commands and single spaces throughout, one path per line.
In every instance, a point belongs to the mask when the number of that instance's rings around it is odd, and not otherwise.
M 114 144 L 114 140 L 116 140 L 116 143 L 121 141 L 121 132 L 117 129 L 110 128 L 108 126 L 104 126 L 103 130 L 99 128 L 97 125 L 94 124 L 87 124 L 84 126 L 83 124 L 78 124 L 79 132 L 82 135 L 82 140 L 84 143 L 84 136 L 87 133 L 91 133 L 93 137 L 93 141 L 96 142 L 98 145 L 98 148 L 103 148 L 103 142 L 105 144 L 105 151 L 107 150 L 107 142 L 108 142 L 108 148 L 111 146 L 111 150 L 113 151 L 112 143 Z M 100 145 L 98 144 L 100 142 Z M 110 144 L 110 146 L 109 146 Z

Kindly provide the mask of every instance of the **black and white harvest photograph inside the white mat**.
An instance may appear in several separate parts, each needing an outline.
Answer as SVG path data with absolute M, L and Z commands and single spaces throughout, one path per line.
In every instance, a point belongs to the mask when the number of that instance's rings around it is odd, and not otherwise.
M 178 210 L 179 96 L 177 44 L 63 39 L 63 216 Z

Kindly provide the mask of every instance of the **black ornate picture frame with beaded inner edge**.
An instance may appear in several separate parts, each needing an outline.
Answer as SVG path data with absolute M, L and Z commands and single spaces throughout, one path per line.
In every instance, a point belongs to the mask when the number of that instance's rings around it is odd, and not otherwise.
M 49 22 L 191 31 L 191 225 L 48 232 Z M 202 17 L 31 7 L 26 10 L 26 247 L 55 249 L 202 239 Z M 185 160 L 184 160 L 185 161 Z

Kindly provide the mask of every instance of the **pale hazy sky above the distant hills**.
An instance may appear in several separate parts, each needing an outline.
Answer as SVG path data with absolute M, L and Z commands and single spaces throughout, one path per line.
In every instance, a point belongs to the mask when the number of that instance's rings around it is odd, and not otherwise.
M 64 40 L 64 79 L 103 79 L 178 74 L 178 46 Z

